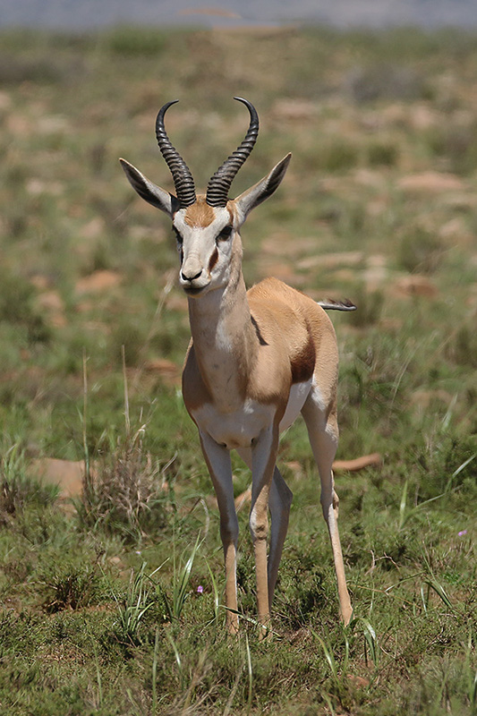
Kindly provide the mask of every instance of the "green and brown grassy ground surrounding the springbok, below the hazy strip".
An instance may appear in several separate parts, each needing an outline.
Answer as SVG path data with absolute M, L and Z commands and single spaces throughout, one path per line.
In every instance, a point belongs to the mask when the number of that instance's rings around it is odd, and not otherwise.
M 475 37 L 19 30 L 2 47 L 0 711 L 477 713 Z M 294 504 L 268 643 L 246 509 L 241 633 L 225 634 L 174 240 L 117 163 L 171 189 L 153 124 L 177 97 L 168 129 L 205 186 L 243 137 L 237 94 L 261 130 L 233 191 L 294 153 L 243 230 L 246 280 L 358 304 L 332 316 L 338 457 L 383 458 L 336 475 L 344 628 L 306 430 L 285 434 Z M 38 482 L 38 457 L 85 461 L 81 499 Z M 237 458 L 234 474 L 238 495 Z

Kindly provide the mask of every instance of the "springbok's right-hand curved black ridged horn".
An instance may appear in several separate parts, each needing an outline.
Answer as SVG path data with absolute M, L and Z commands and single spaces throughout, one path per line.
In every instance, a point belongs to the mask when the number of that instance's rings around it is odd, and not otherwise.
M 250 112 L 250 125 L 240 147 L 235 149 L 234 153 L 226 159 L 224 164 L 217 169 L 215 175 L 210 178 L 207 187 L 206 201 L 210 207 L 225 207 L 228 200 L 228 192 L 230 184 L 234 181 L 234 176 L 243 165 L 246 158 L 249 157 L 259 135 L 259 115 L 257 110 L 248 99 L 242 97 L 234 97 L 248 108 Z

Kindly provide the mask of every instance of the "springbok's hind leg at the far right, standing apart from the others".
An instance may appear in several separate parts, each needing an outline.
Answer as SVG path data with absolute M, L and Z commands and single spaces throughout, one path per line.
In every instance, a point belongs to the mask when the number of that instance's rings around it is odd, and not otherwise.
M 323 516 L 328 524 L 331 549 L 333 550 L 341 617 L 345 624 L 348 624 L 353 609 L 346 586 L 345 565 L 337 524 L 339 500 L 335 492 L 333 471 L 331 469 L 336 455 L 338 439 L 336 403 L 333 403 L 331 410 L 326 411 L 320 401 L 319 391 L 315 388 L 311 391 L 310 396 L 308 396 L 302 407 L 302 416 L 306 422 L 313 456 L 318 465 L 321 482 L 320 502 Z

